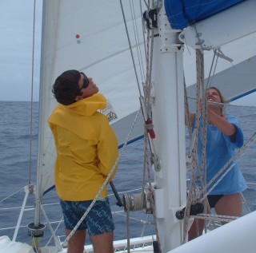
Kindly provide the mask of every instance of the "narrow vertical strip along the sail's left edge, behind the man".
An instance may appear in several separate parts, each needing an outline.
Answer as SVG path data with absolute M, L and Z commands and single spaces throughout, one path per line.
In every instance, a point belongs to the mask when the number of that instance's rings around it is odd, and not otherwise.
M 54 59 L 58 32 L 58 10 L 60 1 L 43 2 L 42 20 L 42 57 L 40 76 L 39 129 L 38 129 L 38 175 L 37 200 L 42 198 L 47 185 L 54 185 L 53 173 L 45 173 L 48 168 L 54 170 L 54 140 L 48 126 L 48 117 L 56 102 L 51 95 L 53 84 Z M 47 182 L 47 183 L 46 183 Z

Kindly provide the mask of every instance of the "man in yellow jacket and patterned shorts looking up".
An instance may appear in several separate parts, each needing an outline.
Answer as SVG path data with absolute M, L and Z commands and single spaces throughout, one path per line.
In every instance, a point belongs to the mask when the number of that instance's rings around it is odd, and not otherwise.
M 106 116 L 98 112 L 106 108 L 106 98 L 92 78 L 67 70 L 56 79 L 53 93 L 59 103 L 49 118 L 57 149 L 55 185 L 69 235 L 114 167 L 118 140 Z M 114 252 L 106 188 L 68 241 L 68 253 L 83 252 L 86 230 L 95 252 Z

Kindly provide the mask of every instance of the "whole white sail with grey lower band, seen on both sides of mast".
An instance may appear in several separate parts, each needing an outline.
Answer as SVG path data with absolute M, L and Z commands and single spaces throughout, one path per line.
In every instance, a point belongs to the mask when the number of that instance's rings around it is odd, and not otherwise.
M 145 50 L 142 33 L 142 11 L 138 1 L 130 6 L 123 2 L 126 22 L 130 35 L 130 43 L 134 49 L 134 61 L 138 70 L 138 82 L 145 81 Z M 118 121 L 113 126 L 118 132 L 119 144 L 126 140 L 130 126 L 139 109 L 138 84 L 134 73 L 133 62 L 124 26 L 120 2 L 118 0 L 86 1 L 68 0 L 45 1 L 45 18 L 42 34 L 42 131 L 38 159 L 41 169 L 39 180 L 42 180 L 41 191 L 45 192 L 54 185 L 54 143 L 47 125 L 50 112 L 56 101 L 50 90 L 54 80 L 66 69 L 78 69 L 93 77 L 100 92 L 109 99 Z M 134 31 L 134 19 L 130 10 L 136 16 L 137 31 Z M 140 45 L 142 62 L 138 61 L 137 47 Z M 219 59 L 215 70 L 213 84 L 223 90 L 226 99 L 241 97 L 255 90 L 256 35 L 235 41 L 231 45 L 224 45 L 222 52 L 234 61 Z M 235 54 L 234 54 L 235 53 Z M 209 72 L 213 53 L 206 53 L 206 73 Z M 184 70 L 186 85 L 190 86 L 188 95 L 195 97 L 196 83 L 194 50 L 185 46 Z M 139 71 L 141 69 L 141 71 Z M 243 73 L 243 74 L 241 74 Z M 242 85 L 241 85 L 242 83 Z M 230 89 L 232 87 L 232 89 Z M 230 90 L 232 91 L 230 93 Z M 228 91 L 228 93 L 226 92 Z M 191 106 L 193 102 L 190 100 Z M 191 107 L 193 109 L 193 107 Z M 121 120 L 121 121 L 120 121 Z M 136 139 L 143 135 L 142 116 L 135 125 L 133 136 Z M 113 123 L 113 122 L 112 122 Z

